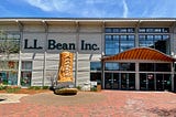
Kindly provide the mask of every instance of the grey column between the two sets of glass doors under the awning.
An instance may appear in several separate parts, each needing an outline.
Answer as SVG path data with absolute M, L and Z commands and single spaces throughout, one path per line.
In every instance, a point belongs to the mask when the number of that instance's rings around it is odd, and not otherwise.
M 140 91 L 139 62 L 135 63 L 135 89 Z

